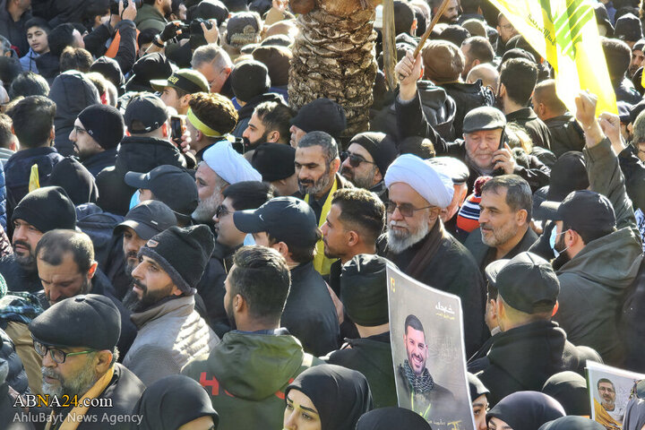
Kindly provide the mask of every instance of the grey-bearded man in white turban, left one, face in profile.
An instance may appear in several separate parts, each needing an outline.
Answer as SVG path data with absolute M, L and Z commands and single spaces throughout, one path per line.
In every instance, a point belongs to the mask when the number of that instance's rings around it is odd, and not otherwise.
M 199 203 L 193 219 L 211 224 L 215 211 L 224 201 L 224 188 L 242 181 L 262 181 L 262 175 L 228 141 L 212 145 L 204 151 L 202 159 L 195 173 Z

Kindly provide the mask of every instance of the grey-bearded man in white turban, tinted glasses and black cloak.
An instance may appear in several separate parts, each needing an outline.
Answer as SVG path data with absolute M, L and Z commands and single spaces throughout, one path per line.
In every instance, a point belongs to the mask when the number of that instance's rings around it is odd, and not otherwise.
M 452 179 L 429 161 L 404 154 L 391 164 L 385 185 L 388 231 L 379 254 L 415 280 L 461 298 L 466 351 L 475 352 L 484 333 L 484 280 L 468 250 L 439 218 L 452 202 Z

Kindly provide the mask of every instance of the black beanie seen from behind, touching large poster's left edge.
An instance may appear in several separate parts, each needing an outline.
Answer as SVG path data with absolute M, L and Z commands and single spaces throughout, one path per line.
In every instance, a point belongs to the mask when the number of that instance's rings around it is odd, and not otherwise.
M 390 321 L 387 301 L 387 260 L 358 254 L 340 273 L 340 301 L 354 323 L 374 327 Z

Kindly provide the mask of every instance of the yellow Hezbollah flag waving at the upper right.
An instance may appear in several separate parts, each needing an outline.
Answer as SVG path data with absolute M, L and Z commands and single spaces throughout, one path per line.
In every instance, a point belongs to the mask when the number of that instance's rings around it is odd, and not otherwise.
M 598 96 L 596 114 L 617 114 L 591 0 L 489 0 L 555 71 L 558 97 L 571 112 L 581 90 Z

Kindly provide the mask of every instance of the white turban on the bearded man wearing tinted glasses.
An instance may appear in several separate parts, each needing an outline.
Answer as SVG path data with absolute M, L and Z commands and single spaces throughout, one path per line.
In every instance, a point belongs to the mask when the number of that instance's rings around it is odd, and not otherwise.
M 390 165 L 385 174 L 385 186 L 402 182 L 411 186 L 428 204 L 447 208 L 452 202 L 452 179 L 416 155 L 403 154 Z

